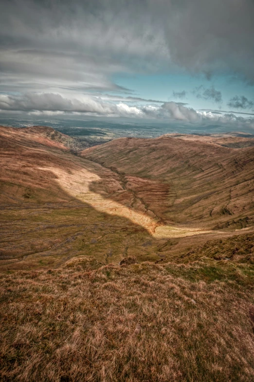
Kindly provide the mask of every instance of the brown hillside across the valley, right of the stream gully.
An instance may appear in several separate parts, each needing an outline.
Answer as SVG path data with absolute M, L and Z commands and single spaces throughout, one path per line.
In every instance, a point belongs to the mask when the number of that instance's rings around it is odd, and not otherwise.
M 254 148 L 162 136 L 119 138 L 81 155 L 121 173 L 164 222 L 199 221 L 211 229 L 253 221 Z

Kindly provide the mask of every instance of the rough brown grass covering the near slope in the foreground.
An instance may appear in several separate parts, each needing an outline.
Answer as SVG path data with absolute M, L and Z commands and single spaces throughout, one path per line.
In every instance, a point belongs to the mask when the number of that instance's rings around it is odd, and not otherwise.
M 254 381 L 254 266 L 102 266 L 0 275 L 2 381 Z

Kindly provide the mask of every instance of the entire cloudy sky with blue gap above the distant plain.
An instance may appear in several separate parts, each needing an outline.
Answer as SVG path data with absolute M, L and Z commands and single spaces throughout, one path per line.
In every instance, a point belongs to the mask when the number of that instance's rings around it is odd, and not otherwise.
M 1 0 L 1 115 L 254 132 L 253 0 Z

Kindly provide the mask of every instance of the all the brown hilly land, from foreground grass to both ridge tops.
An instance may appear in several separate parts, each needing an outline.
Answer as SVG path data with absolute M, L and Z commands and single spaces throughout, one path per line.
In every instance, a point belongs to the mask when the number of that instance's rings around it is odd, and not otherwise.
M 0 128 L 0 380 L 252 382 L 254 147 L 71 144 Z

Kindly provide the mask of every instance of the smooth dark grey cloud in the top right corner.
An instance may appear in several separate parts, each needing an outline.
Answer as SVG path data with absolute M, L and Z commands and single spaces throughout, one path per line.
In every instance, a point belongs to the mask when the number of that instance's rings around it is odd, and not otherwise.
M 166 41 L 175 63 L 193 73 L 203 72 L 208 78 L 228 72 L 253 83 L 252 0 L 168 3 L 171 17 L 163 9 L 168 21 Z

